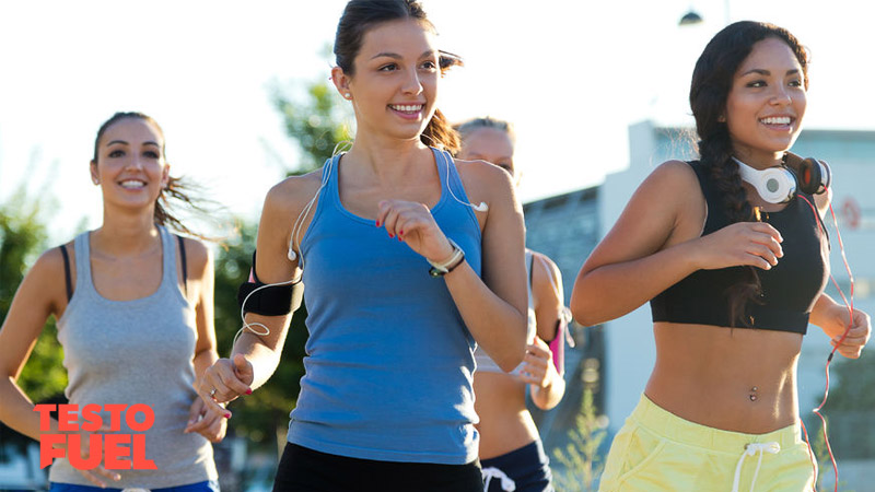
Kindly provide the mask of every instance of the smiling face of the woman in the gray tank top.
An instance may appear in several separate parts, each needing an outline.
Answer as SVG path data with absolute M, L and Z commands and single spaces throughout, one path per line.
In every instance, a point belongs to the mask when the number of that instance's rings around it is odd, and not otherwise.
M 97 142 L 97 160 L 91 162 L 104 207 L 154 207 L 168 172 L 161 130 L 140 118 L 122 118 L 106 128 Z

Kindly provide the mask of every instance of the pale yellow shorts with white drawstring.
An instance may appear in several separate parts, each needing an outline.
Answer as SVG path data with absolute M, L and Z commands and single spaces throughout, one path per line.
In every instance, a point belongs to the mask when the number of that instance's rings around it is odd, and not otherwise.
M 760 461 L 761 459 L 761 461 Z M 798 423 L 768 434 L 686 421 L 645 396 L 614 437 L 600 492 L 810 491 L 814 468 Z

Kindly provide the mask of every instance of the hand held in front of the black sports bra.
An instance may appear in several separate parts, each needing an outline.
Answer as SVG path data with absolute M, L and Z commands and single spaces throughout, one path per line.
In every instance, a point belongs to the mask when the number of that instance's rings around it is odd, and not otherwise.
M 695 241 L 697 263 L 703 270 L 738 266 L 770 270 L 784 256 L 781 233 L 765 222 L 736 222 Z

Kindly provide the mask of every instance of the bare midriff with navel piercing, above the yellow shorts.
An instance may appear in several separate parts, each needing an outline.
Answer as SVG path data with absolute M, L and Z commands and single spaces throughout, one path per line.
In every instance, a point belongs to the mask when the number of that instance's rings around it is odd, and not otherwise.
M 681 419 L 763 434 L 798 420 L 802 335 L 655 323 L 656 364 L 644 394 Z

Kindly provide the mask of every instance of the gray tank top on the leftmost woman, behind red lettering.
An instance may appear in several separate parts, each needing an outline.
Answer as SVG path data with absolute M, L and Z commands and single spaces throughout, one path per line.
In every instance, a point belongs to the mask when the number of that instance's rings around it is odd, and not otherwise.
M 179 291 L 176 245 L 159 226 L 163 274 L 159 289 L 133 301 L 110 301 L 94 289 L 89 233 L 75 238 L 75 291 L 58 320 L 65 395 L 80 409 L 89 403 L 145 403 L 155 415 L 145 432 L 145 458 L 158 470 L 116 470 L 112 488 L 160 489 L 214 480 L 212 446 L 200 434 L 183 434 L 188 409 L 198 398 L 192 384 L 197 328 L 195 309 Z M 108 412 L 102 413 L 108 426 Z M 142 414 L 139 415 L 142 420 Z M 121 419 L 124 434 L 133 432 Z M 126 458 L 130 459 L 130 457 Z M 92 485 L 65 459 L 56 459 L 49 480 Z

